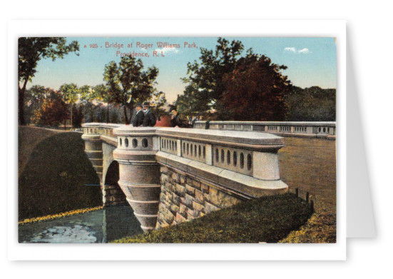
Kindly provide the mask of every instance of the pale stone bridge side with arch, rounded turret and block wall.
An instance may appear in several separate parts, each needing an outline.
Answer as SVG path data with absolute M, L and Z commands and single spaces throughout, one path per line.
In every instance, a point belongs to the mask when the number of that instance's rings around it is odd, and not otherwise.
M 86 123 L 82 138 L 103 204 L 128 202 L 145 231 L 288 191 L 271 133 Z

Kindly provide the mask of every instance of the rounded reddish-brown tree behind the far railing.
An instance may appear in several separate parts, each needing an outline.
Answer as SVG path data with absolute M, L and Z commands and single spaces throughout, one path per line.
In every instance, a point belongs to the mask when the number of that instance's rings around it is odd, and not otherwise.
M 264 55 L 239 59 L 238 66 L 223 76 L 218 99 L 218 117 L 236 121 L 284 121 L 287 113 L 285 93 L 292 88 L 281 71 L 287 66 L 272 64 Z

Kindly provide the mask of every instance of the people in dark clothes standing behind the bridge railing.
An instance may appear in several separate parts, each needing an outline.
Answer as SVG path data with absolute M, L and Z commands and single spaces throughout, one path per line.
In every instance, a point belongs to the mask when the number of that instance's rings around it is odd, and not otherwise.
M 170 112 L 170 126 L 180 128 L 190 128 L 188 118 L 178 113 L 175 109 Z M 155 115 L 150 109 L 150 103 L 136 104 L 136 115 L 131 122 L 134 127 L 153 127 L 156 123 Z

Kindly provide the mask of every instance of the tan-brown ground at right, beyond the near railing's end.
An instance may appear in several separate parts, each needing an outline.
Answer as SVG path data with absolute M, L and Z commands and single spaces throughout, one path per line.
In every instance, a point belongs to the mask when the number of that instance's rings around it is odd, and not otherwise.
M 278 152 L 282 181 L 310 193 L 315 213 L 282 243 L 336 242 L 336 141 L 318 138 L 284 138 Z

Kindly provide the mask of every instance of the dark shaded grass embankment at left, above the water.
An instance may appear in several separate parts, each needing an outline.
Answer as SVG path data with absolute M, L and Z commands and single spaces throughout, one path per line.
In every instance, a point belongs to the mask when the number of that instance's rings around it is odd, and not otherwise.
M 29 156 L 28 156 L 29 154 Z M 19 127 L 19 220 L 102 205 L 80 133 Z

